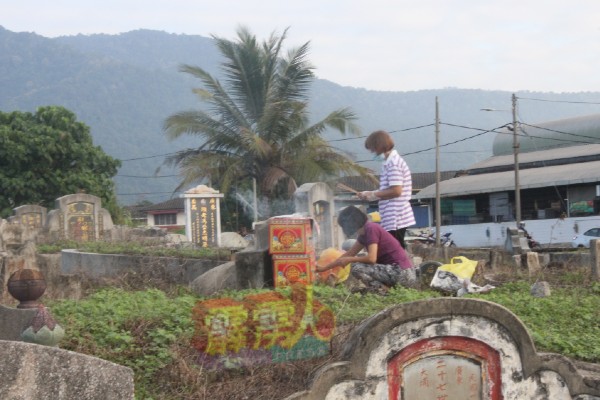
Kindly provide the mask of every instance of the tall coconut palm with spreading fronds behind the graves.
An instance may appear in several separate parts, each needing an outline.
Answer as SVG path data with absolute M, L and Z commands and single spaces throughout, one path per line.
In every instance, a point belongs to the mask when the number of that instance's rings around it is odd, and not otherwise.
M 286 33 L 273 33 L 263 43 L 243 27 L 235 42 L 213 36 L 224 58 L 223 83 L 202 68 L 181 67 L 202 82 L 194 91 L 208 108 L 179 112 L 165 121 L 171 139 L 184 134 L 203 139 L 198 148 L 167 158 L 184 177 L 179 188 L 208 181 L 226 193 L 235 184 L 248 189 L 256 179 L 259 196 L 273 200 L 289 198 L 306 182 L 368 173 L 321 136 L 326 129 L 357 134 L 350 109 L 309 123 L 314 79 L 306 59 L 309 43 L 282 56 Z

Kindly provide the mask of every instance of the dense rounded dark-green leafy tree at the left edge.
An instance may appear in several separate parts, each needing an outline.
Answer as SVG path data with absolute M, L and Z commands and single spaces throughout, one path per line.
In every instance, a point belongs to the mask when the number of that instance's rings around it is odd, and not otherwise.
M 99 146 L 90 129 L 62 107 L 35 113 L 0 112 L 0 215 L 25 204 L 53 207 L 61 196 L 85 192 L 118 216 L 112 177 L 121 165 Z

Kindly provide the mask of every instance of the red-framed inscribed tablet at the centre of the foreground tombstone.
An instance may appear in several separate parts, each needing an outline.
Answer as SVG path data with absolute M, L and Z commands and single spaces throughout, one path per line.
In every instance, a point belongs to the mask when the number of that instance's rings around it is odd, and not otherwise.
M 390 400 L 502 399 L 500 356 L 459 336 L 413 343 L 388 362 Z

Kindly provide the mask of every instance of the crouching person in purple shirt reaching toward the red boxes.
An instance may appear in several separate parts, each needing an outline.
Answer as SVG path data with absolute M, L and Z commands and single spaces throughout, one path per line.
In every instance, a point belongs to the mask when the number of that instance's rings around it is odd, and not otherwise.
M 317 267 L 318 272 L 351 264 L 352 276 L 367 291 L 385 293 L 396 285 L 417 286 L 415 269 L 398 240 L 379 224 L 369 221 L 359 208 L 349 206 L 340 211 L 338 224 L 346 236 L 356 234 L 356 242 L 338 259 Z M 366 253 L 360 253 L 363 249 Z

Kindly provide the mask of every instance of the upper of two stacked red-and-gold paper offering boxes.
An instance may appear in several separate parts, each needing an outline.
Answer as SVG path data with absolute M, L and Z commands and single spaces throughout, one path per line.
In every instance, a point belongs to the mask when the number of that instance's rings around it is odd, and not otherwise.
M 269 219 L 270 254 L 307 254 L 313 251 L 310 218 Z

